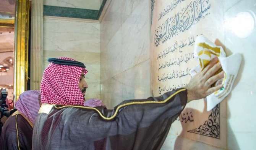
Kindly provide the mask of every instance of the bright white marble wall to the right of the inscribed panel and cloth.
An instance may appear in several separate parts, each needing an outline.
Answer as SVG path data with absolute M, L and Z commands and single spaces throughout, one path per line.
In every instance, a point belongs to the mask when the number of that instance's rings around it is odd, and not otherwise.
M 250 12 L 251 17 L 239 13 Z M 256 147 L 256 78 L 255 39 L 256 1 L 227 0 L 225 2 L 225 45 L 229 53 L 240 52 L 243 60 L 227 101 L 228 149 L 253 150 Z M 254 22 L 254 24 L 253 24 Z

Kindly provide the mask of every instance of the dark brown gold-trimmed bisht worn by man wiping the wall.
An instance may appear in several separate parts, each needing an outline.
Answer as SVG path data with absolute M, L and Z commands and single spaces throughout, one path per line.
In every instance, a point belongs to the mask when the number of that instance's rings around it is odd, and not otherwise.
M 187 102 L 185 88 L 104 107 L 43 104 L 33 150 L 159 150 Z

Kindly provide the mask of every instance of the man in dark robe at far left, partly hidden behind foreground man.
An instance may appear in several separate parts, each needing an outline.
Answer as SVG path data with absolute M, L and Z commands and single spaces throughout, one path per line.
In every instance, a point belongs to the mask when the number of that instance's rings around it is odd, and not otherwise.
M 40 91 L 25 91 L 19 95 L 14 112 L 3 125 L 0 150 L 31 150 L 32 131 L 41 106 Z

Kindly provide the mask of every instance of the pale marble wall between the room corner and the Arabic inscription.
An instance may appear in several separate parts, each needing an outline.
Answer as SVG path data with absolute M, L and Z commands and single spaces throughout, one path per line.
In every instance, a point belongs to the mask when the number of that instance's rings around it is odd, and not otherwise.
M 149 2 L 112 0 L 100 23 L 101 99 L 113 108 L 150 96 Z

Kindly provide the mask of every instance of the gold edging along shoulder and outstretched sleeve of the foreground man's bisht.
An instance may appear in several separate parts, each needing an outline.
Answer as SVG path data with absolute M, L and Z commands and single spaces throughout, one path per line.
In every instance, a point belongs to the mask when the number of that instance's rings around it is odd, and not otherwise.
M 169 96 L 167 99 L 165 99 L 164 101 L 143 101 L 143 102 L 131 102 L 131 103 L 126 103 L 126 104 L 122 104 L 120 106 L 117 107 L 115 114 L 112 115 L 111 117 L 105 117 L 98 109 L 94 108 L 94 107 L 85 107 L 85 106 L 61 106 L 61 107 L 57 107 L 56 105 L 54 105 L 54 107 L 56 109 L 62 109 L 65 107 L 75 107 L 75 108 L 86 108 L 86 109 L 91 109 L 94 111 L 97 111 L 100 115 L 100 117 L 102 117 L 105 120 L 112 120 L 113 118 L 115 118 L 115 116 L 117 115 L 118 111 L 120 108 L 125 107 L 125 106 L 129 106 L 129 105 L 133 105 L 133 104 L 163 104 L 166 103 L 167 101 L 169 101 L 169 99 L 171 99 L 174 95 L 177 95 L 178 93 L 185 91 L 186 89 L 183 88 L 181 90 L 178 90 L 177 92 L 173 93 L 171 96 Z

